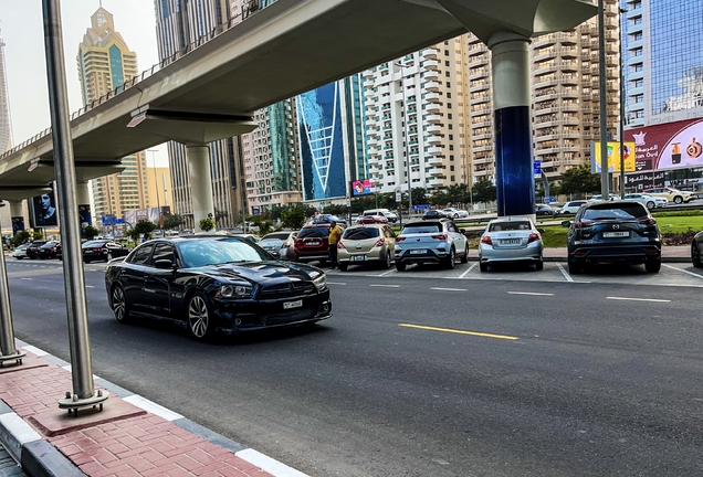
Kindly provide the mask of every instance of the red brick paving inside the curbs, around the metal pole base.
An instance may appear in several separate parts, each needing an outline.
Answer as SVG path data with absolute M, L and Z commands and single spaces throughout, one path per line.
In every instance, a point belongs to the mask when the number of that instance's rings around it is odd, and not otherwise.
M 40 360 L 45 365 L 4 368 L 0 371 L 0 399 L 88 476 L 271 475 L 230 451 L 149 413 L 126 418 L 115 416 L 109 422 L 83 428 L 69 424 L 75 430 L 49 436 L 43 427 L 33 424 L 32 417 L 46 412 L 67 413 L 59 409 L 59 400 L 72 389 L 71 373 L 31 353 L 27 360 Z M 112 394 L 105 407 L 117 400 L 120 399 Z M 73 418 L 81 420 L 81 413 Z

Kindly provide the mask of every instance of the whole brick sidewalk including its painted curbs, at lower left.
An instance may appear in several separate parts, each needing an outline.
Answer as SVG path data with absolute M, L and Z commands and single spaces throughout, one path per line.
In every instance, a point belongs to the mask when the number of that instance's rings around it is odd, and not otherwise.
M 18 348 L 23 363 L 0 368 L 0 444 L 30 477 L 305 477 L 97 377 L 95 389 L 111 393 L 103 411 L 69 415 L 59 400 L 72 390 L 70 363 Z

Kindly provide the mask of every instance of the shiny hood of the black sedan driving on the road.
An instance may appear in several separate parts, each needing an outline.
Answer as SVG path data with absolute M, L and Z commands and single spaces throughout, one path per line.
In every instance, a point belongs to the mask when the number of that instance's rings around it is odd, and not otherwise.
M 324 272 L 311 265 L 285 262 L 246 262 L 237 264 L 208 265 L 197 271 L 221 279 L 248 282 L 280 282 L 282 279 L 308 282 Z

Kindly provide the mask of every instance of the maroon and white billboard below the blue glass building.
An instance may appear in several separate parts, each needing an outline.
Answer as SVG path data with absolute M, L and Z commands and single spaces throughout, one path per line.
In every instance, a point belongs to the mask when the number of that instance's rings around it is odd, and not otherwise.
M 629 129 L 636 169 L 660 170 L 703 166 L 703 118 Z

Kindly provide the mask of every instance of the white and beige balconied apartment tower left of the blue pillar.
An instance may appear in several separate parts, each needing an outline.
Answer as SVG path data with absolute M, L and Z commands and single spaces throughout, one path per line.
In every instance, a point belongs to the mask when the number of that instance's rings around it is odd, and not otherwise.
M 470 181 L 466 36 L 363 73 L 369 174 L 381 192 Z

